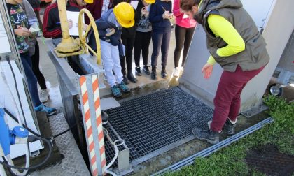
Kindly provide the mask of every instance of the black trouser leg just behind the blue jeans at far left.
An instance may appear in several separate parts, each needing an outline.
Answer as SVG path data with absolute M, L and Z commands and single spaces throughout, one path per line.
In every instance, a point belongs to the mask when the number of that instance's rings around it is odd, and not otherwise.
M 34 72 L 34 75 L 36 76 L 38 80 L 38 85 L 40 85 L 41 89 L 47 89 L 46 82 L 44 75 L 41 73 L 40 68 L 38 67 L 38 64 L 40 62 L 40 50 L 38 47 L 38 41 L 36 41 L 35 45 L 35 54 L 31 56 L 31 68 Z

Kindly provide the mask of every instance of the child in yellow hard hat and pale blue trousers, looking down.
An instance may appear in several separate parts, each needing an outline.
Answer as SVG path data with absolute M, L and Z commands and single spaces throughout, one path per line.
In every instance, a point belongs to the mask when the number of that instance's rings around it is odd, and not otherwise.
M 101 55 L 107 81 L 113 96 L 122 96 L 122 91 L 128 92 L 130 89 L 123 82 L 118 45 L 121 45 L 122 27 L 134 26 L 134 8 L 130 3 L 118 3 L 115 8 L 104 13 L 96 24 L 101 39 Z

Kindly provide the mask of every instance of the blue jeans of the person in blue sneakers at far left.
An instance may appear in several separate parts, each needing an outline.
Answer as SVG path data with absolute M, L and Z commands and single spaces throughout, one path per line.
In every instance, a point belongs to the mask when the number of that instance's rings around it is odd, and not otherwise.
M 29 88 L 29 94 L 31 94 L 31 100 L 33 101 L 34 107 L 38 107 L 41 105 L 41 101 L 38 98 L 37 79 L 31 69 L 31 57 L 29 57 L 29 53 L 22 53 L 20 54 L 20 58 L 22 59 L 22 66 L 24 66 L 25 76 L 27 77 L 27 86 Z

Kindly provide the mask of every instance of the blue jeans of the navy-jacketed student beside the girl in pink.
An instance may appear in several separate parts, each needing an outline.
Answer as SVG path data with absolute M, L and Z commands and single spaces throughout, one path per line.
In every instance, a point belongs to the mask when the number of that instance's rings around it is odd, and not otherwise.
M 169 41 L 171 38 L 171 33 L 152 33 L 152 43 L 153 43 L 153 52 L 151 55 L 151 66 L 158 65 L 158 55 L 161 48 L 161 66 L 167 66 L 167 57 L 169 54 Z

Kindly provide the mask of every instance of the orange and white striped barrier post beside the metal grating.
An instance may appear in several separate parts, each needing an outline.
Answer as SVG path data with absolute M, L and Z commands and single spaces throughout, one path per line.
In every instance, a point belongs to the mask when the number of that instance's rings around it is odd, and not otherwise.
M 92 175 L 104 175 L 106 156 L 98 75 L 80 76 L 80 100 Z

